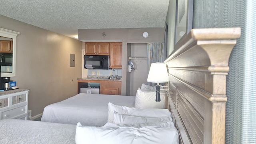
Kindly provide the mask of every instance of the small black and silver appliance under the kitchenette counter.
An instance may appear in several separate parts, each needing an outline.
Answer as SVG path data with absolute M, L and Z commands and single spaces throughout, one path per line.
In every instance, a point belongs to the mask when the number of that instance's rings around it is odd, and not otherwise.
M 81 86 L 80 93 L 100 94 L 100 83 L 88 82 Z

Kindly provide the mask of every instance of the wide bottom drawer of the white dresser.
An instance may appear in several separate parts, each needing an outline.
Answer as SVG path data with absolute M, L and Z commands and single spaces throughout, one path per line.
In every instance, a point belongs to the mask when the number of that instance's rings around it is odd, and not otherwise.
M 8 119 L 16 117 L 21 114 L 26 114 L 26 106 L 21 106 L 19 108 L 14 108 L 12 110 L 2 112 L 1 117 L 2 119 Z

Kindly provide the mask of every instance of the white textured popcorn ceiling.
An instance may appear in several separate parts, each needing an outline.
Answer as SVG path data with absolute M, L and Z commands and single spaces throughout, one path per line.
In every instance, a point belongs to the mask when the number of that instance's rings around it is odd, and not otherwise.
M 169 0 L 1 0 L 0 14 L 74 38 L 78 29 L 163 28 Z

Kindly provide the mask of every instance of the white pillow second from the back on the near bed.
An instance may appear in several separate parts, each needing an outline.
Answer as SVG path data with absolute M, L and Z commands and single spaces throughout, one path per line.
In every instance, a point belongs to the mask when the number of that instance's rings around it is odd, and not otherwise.
M 114 124 L 140 124 L 148 122 L 172 121 L 172 117 L 148 117 L 148 116 L 130 116 L 127 114 L 118 114 L 114 112 Z

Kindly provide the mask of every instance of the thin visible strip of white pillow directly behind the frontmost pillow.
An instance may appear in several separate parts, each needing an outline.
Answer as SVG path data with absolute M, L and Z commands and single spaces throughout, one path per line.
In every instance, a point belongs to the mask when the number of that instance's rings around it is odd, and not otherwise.
M 160 122 L 148 122 L 148 123 L 140 123 L 140 124 L 113 124 L 110 122 L 107 122 L 104 126 L 104 128 L 118 128 L 118 127 L 144 127 L 144 126 L 157 126 L 157 127 L 174 127 L 174 123 L 170 120 L 166 121 L 160 121 Z

